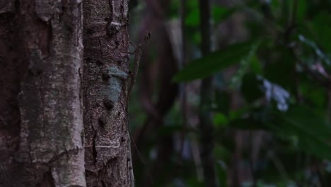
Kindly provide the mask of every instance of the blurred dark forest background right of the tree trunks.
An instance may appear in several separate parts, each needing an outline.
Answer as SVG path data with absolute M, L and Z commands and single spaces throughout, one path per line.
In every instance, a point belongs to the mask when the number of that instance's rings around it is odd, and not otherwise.
M 331 186 L 330 13 L 130 0 L 132 42 L 152 33 L 129 104 L 137 186 Z

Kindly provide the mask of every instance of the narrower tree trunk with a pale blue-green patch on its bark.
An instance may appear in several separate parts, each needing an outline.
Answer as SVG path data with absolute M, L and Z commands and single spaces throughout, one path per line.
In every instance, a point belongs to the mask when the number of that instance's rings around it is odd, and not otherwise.
M 87 186 L 130 185 L 127 11 L 127 0 L 83 2 Z

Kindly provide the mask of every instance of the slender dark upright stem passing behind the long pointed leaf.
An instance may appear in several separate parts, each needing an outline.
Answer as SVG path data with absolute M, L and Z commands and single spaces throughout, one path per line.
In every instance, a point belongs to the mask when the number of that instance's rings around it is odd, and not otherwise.
M 202 55 L 211 52 L 211 11 L 209 0 L 199 0 L 200 31 L 202 35 Z M 202 80 L 199 106 L 199 130 L 201 133 L 202 147 L 200 154 L 202 168 L 204 169 L 204 183 L 207 187 L 217 186 L 215 158 L 214 158 L 214 126 L 211 123 L 211 98 L 213 94 L 212 77 Z

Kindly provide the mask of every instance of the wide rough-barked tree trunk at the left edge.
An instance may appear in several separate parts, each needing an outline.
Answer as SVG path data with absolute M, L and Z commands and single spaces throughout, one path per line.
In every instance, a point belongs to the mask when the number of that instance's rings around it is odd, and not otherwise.
M 0 1 L 0 186 L 86 186 L 81 11 Z

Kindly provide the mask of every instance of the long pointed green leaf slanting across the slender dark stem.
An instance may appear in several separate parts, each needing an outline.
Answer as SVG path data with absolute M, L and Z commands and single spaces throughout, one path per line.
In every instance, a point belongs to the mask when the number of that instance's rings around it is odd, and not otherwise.
M 230 45 L 223 50 L 212 52 L 209 55 L 194 60 L 187 64 L 180 72 L 173 77 L 174 81 L 192 81 L 203 79 L 216 72 L 225 69 L 233 64 L 237 64 L 249 54 L 251 47 L 256 41 L 240 42 Z

